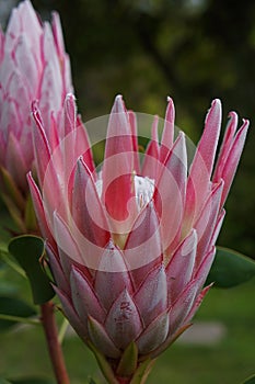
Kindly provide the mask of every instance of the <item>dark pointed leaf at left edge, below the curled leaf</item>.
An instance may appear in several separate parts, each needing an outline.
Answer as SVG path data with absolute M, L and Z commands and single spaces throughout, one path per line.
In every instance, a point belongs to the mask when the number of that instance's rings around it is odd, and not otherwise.
M 1 315 L 5 319 L 2 319 Z M 0 331 L 5 331 L 22 319 L 25 320 L 34 315 L 36 315 L 35 309 L 25 302 L 15 297 L 0 296 Z

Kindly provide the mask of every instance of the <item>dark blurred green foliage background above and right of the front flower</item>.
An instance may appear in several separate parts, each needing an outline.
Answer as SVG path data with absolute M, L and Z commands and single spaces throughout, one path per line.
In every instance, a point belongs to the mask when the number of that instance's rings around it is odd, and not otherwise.
M 19 2 L 19 1 L 18 1 Z M 164 115 L 197 142 L 213 98 L 223 124 L 255 115 L 255 2 L 247 0 L 32 0 L 43 19 L 60 13 L 84 121 L 109 112 L 123 93 L 136 112 Z M 254 257 L 255 133 L 251 129 L 227 203 L 219 244 Z

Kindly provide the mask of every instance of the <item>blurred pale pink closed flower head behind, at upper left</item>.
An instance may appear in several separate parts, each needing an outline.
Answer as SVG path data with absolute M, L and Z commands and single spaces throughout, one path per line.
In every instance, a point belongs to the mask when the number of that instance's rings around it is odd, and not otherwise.
M 43 24 L 25 0 L 12 10 L 5 35 L 0 31 L 0 166 L 24 194 L 34 160 L 32 101 L 38 100 L 45 126 L 51 127 L 67 92 L 72 86 L 59 15 L 53 13 L 51 26 Z M 54 140 L 56 132 L 47 134 Z

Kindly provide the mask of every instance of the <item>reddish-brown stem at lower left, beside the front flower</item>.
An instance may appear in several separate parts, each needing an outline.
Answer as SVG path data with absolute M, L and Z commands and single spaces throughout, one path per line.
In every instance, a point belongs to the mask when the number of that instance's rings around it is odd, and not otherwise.
M 55 305 L 47 302 L 40 306 L 40 320 L 44 327 L 45 337 L 48 345 L 48 351 L 51 359 L 55 376 L 58 384 L 70 384 L 62 350 L 58 341 L 58 329 L 55 320 Z

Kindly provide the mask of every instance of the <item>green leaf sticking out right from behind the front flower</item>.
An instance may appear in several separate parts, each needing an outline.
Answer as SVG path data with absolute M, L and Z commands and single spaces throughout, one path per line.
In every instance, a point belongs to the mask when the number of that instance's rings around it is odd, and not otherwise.
M 218 247 L 206 284 L 232 287 L 255 276 L 255 261 L 232 249 Z

